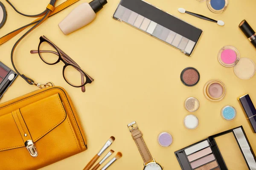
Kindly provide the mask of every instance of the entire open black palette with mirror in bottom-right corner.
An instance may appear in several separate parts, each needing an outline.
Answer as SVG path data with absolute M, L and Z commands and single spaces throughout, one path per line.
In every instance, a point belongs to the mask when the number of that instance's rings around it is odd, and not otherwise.
M 209 136 L 175 152 L 182 170 L 256 170 L 242 126 Z

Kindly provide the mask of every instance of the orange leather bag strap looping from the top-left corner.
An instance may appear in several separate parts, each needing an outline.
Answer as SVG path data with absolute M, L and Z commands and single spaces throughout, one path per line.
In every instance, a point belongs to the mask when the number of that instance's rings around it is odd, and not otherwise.
M 45 11 L 43 11 L 41 14 L 37 14 L 37 15 L 26 15 L 23 14 L 21 12 L 19 12 L 13 5 L 12 3 L 9 2 L 9 0 L 6 0 L 11 6 L 12 8 L 14 8 L 15 11 L 17 11 L 19 14 L 26 16 L 26 17 L 39 17 L 36 20 L 34 20 L 32 23 L 27 24 L 26 26 L 23 26 L 21 28 L 16 29 L 15 31 L 10 32 L 9 34 L 6 34 L 5 36 L 0 38 L 0 45 L 2 45 L 3 43 L 5 43 L 6 41 L 10 40 L 12 37 L 15 37 L 15 35 L 19 34 L 21 31 L 23 31 L 24 29 L 26 29 L 29 26 L 34 25 L 32 28 L 30 28 L 25 34 L 23 34 L 22 37 L 20 37 L 19 40 L 17 40 L 17 42 L 15 43 L 15 45 L 12 48 L 12 52 L 11 52 L 11 61 L 12 61 L 12 66 L 15 69 L 15 71 L 17 72 L 17 74 L 20 75 L 20 77 L 22 77 L 23 79 L 26 80 L 26 82 L 28 82 L 30 85 L 34 85 L 36 84 L 32 79 L 30 79 L 29 77 L 26 77 L 24 74 L 20 74 L 19 71 L 17 71 L 17 68 L 15 67 L 14 61 L 13 61 L 13 55 L 14 55 L 14 51 L 15 48 L 17 47 L 17 45 L 19 44 L 19 42 L 26 37 L 27 34 L 29 34 L 31 31 L 33 31 L 35 28 L 37 28 L 38 26 L 41 25 L 41 23 L 43 23 L 45 20 L 47 20 L 48 17 L 58 13 L 59 11 L 67 8 L 68 6 L 72 5 L 73 3 L 76 3 L 79 0 L 67 0 L 64 3 L 62 3 L 61 5 L 57 6 L 56 8 L 55 3 L 57 0 L 50 0 L 50 3 L 47 6 L 47 9 Z

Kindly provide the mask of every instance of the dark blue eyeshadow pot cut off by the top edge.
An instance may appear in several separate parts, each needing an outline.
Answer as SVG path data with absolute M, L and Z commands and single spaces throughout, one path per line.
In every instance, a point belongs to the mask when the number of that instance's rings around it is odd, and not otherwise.
M 207 0 L 207 7 L 213 13 L 222 13 L 227 9 L 229 0 Z

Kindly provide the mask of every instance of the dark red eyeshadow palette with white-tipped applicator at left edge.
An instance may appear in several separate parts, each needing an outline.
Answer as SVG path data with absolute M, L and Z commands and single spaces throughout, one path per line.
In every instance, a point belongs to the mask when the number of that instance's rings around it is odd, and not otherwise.
M 12 69 L 0 62 L 0 99 L 16 77 L 17 74 Z

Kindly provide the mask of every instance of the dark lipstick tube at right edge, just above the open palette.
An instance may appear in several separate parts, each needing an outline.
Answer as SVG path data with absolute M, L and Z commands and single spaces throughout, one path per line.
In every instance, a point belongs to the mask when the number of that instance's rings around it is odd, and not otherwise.
M 241 102 L 242 107 L 246 113 L 246 119 L 250 122 L 253 133 L 256 133 L 256 109 L 253 105 L 252 100 L 250 99 L 249 94 L 245 94 L 238 98 Z

